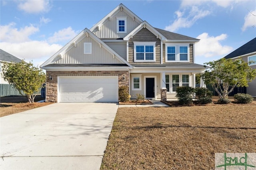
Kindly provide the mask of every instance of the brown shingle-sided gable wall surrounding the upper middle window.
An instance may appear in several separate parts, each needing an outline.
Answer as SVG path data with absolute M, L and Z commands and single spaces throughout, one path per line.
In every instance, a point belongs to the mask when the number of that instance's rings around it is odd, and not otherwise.
M 134 35 L 131 39 L 129 39 L 129 63 L 140 63 L 134 62 L 134 41 L 156 41 L 156 62 L 154 63 L 161 63 L 161 40 L 156 38 L 156 35 L 151 33 L 148 29 L 142 28 L 136 35 Z M 147 63 L 147 62 L 142 62 Z M 152 62 L 148 62 L 152 63 Z

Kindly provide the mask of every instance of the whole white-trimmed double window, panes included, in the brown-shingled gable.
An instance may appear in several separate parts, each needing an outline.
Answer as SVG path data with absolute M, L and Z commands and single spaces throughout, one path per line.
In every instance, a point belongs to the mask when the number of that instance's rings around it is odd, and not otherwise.
M 154 62 L 156 42 L 134 42 L 135 62 Z

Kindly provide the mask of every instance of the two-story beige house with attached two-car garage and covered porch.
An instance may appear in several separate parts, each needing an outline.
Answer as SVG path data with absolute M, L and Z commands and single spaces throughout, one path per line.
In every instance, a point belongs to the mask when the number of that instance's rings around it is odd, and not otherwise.
M 177 86 L 195 87 L 194 46 L 199 39 L 158 29 L 120 4 L 84 29 L 41 65 L 47 102 L 118 102 L 118 87 L 131 98 L 175 98 Z

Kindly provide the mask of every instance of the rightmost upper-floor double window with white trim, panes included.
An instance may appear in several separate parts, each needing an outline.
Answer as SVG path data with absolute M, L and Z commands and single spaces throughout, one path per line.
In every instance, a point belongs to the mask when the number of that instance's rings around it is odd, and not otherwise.
M 168 62 L 189 62 L 189 44 L 165 44 L 165 61 Z

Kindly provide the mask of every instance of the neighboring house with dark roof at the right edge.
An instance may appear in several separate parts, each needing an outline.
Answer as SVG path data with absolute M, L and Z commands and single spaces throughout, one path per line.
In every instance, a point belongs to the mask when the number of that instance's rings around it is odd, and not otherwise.
M 226 55 L 224 58 L 235 60 L 240 57 L 246 63 L 252 61 L 252 63 L 249 63 L 249 66 L 251 68 L 256 68 L 256 38 L 242 45 L 232 53 Z M 256 97 L 256 79 L 249 82 L 248 85 L 246 93 Z

